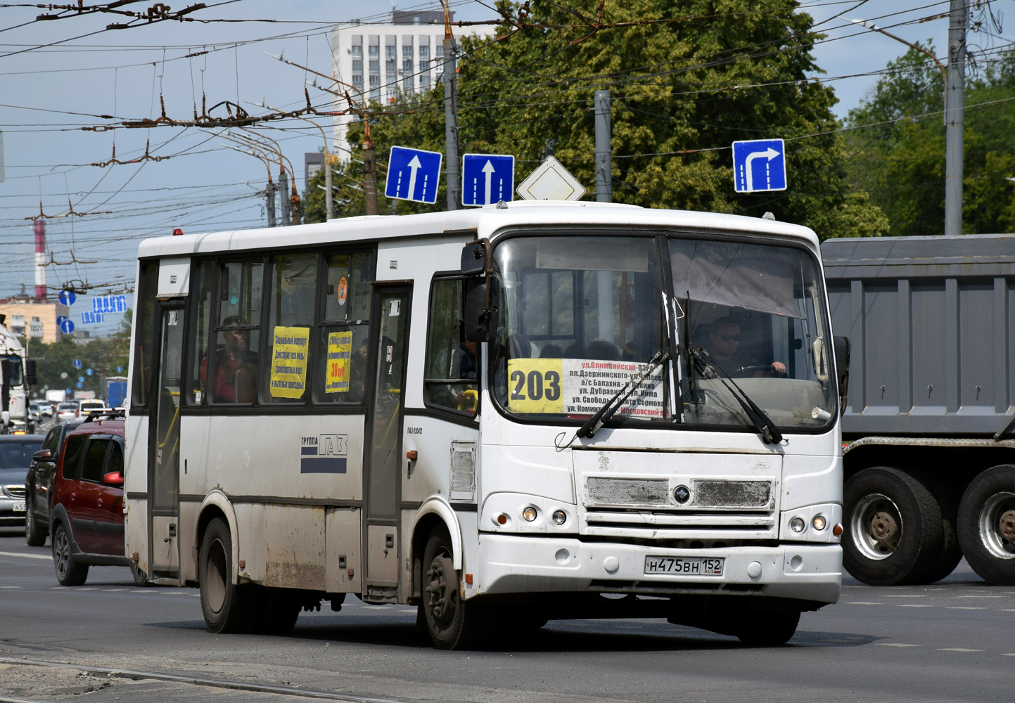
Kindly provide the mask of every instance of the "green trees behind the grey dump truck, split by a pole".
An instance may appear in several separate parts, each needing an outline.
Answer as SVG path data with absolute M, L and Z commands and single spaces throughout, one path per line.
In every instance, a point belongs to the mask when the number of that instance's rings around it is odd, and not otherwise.
M 1015 188 L 1006 177 L 1015 175 L 1015 53 L 984 63 L 966 83 L 962 229 L 1013 231 Z M 850 112 L 849 178 L 895 235 L 944 232 L 943 86 L 937 64 L 910 49 Z

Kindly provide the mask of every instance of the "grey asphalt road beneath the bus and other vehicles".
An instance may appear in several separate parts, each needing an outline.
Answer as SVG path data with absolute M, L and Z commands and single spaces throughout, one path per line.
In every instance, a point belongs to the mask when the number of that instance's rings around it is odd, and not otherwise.
M 57 584 L 49 547 L 0 530 L 0 701 L 1007 701 L 1015 588 L 963 562 L 929 586 L 848 579 L 789 644 L 656 620 L 553 622 L 484 651 L 414 634 L 415 611 L 349 597 L 287 636 L 214 635 L 191 588 L 133 585 L 120 567 Z M 47 665 L 69 663 L 71 666 Z M 107 670 L 130 670 L 125 678 Z M 233 687 L 233 688 L 229 688 Z M 235 688 L 240 687 L 240 688 Z

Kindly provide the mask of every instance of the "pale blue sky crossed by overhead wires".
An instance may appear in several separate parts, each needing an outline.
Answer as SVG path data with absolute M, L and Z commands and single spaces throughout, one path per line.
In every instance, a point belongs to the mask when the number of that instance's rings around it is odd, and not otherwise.
M 536 2 L 540 0 L 534 0 Z M 595 0 L 571 0 L 590 7 Z M 1013 0 L 994 0 L 995 16 Z M 877 82 L 876 72 L 906 47 L 851 23 L 873 20 L 910 42 L 932 42 L 944 61 L 948 1 L 805 0 L 808 12 L 827 38 L 814 47 L 815 60 L 839 98 L 834 111 L 844 117 Z M 188 17 L 219 21 L 161 21 L 126 29 L 106 29 L 127 21 L 108 13 L 32 21 L 35 5 L 0 6 L 0 132 L 4 175 L 0 183 L 0 297 L 17 295 L 21 283 L 33 290 L 31 219 L 46 220 L 52 263 L 47 267 L 51 295 L 68 281 L 87 284 L 95 294 L 128 292 L 133 286 L 140 240 L 184 232 L 265 226 L 265 165 L 227 147 L 220 130 L 116 129 L 82 127 L 120 120 L 157 118 L 159 96 L 165 114 L 178 120 L 207 106 L 229 100 L 252 115 L 269 109 L 306 104 L 302 70 L 278 61 L 284 57 L 321 73 L 331 73 L 329 29 L 359 19 L 384 22 L 386 0 L 209 1 Z M 186 3 L 173 3 L 178 10 Z M 477 0 L 452 0 L 456 19 L 494 17 Z M 674 3 L 679 11 L 680 3 Z M 147 3 L 123 9 L 145 9 Z M 399 9 L 438 9 L 435 0 L 401 0 Z M 836 16 L 838 15 L 838 16 Z M 989 19 L 989 18 L 988 18 Z M 242 20 L 242 21 L 238 21 Z M 1015 37 L 1004 24 L 971 33 L 972 50 L 995 51 Z M 992 36 L 992 34 L 996 34 Z M 51 45 L 45 46 L 42 45 Z M 323 83 L 323 81 L 321 81 Z M 329 94 L 308 87 L 312 103 L 328 110 Z M 267 108 L 260 107 L 261 103 Z M 222 108 L 213 116 L 221 115 Z M 97 116 L 112 115 L 117 121 Z M 331 118 L 315 120 L 330 137 Z M 259 130 L 274 139 L 292 162 L 303 190 L 303 153 L 324 146 L 321 130 L 289 120 Z M 772 135 L 777 136 L 777 135 Z M 92 165 L 114 157 L 135 163 Z M 159 160 L 155 160 L 155 159 Z M 277 166 L 272 169 L 277 173 Z M 70 210 L 78 215 L 67 215 Z M 128 299 L 131 296 L 128 295 Z M 105 324 L 85 324 L 80 313 L 92 307 L 78 296 L 71 319 L 78 329 L 106 334 L 119 315 Z

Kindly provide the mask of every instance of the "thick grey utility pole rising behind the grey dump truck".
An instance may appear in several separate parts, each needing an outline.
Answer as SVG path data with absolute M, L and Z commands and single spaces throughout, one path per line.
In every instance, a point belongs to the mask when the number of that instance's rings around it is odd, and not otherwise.
M 945 87 L 945 235 L 962 233 L 962 139 L 965 122 L 965 29 L 968 0 L 951 0 Z

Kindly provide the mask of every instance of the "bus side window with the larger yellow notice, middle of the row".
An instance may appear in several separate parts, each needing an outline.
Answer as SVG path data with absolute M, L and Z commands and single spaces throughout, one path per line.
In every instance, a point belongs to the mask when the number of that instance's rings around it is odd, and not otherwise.
M 317 274 L 316 254 L 271 259 L 269 358 L 261 370 L 262 404 L 307 402 Z

